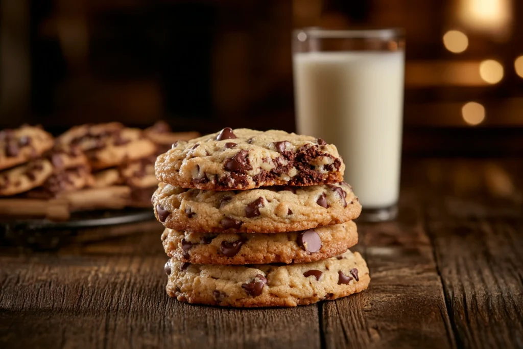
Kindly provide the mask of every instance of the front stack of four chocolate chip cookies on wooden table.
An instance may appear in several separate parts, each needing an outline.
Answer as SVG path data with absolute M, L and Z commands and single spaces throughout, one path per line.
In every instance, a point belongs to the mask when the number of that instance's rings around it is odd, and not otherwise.
M 322 139 L 225 128 L 158 156 L 156 218 L 166 229 L 167 293 L 233 307 L 297 306 L 367 288 L 349 247 L 358 198 Z

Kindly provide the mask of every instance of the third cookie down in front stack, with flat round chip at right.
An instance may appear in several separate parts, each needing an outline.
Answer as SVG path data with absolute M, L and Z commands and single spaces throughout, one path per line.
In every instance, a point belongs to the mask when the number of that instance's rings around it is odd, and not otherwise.
M 356 223 L 278 234 L 209 234 L 166 228 L 165 253 L 193 264 L 308 263 L 345 253 L 358 242 Z

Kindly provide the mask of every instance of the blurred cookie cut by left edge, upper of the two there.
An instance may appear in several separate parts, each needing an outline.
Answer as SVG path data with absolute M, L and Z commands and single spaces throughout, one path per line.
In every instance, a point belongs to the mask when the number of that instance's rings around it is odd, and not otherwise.
M 53 146 L 53 141 L 50 133 L 36 126 L 0 131 L 0 170 L 36 159 Z

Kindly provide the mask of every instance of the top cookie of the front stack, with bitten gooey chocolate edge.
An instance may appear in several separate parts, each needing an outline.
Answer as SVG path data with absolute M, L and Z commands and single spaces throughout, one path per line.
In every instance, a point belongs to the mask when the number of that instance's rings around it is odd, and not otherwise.
M 155 164 L 160 182 L 203 190 L 331 184 L 343 181 L 344 170 L 335 145 L 322 139 L 229 127 L 178 141 Z

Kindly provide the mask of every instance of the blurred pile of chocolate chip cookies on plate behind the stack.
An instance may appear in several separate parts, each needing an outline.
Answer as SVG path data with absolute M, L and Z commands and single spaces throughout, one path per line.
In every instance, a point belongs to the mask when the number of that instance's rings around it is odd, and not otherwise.
M 59 137 L 38 126 L 0 131 L 0 216 L 67 220 L 71 212 L 151 207 L 156 156 L 197 132 L 163 121 L 75 126 Z

